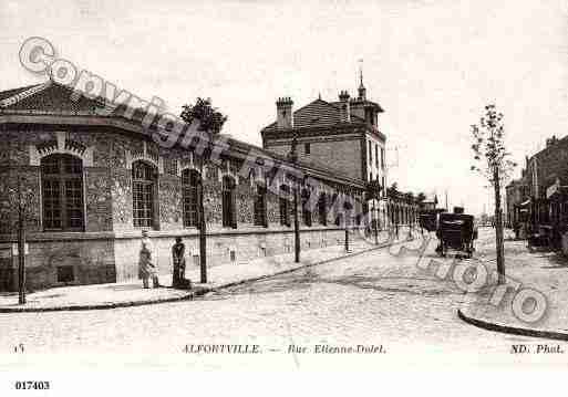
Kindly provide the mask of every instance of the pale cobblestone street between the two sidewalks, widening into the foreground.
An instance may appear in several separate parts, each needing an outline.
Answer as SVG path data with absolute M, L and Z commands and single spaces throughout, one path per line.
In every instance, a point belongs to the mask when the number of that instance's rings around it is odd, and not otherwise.
M 383 249 L 210 293 L 190 302 L 92 312 L 0 315 L 2 363 L 56 366 L 153 365 L 213 368 L 361 368 L 424 363 L 498 365 L 564 363 L 564 355 L 515 355 L 512 344 L 543 341 L 461 322 L 462 291 Z M 427 255 L 434 255 L 433 247 Z M 25 354 L 13 354 L 16 344 Z M 187 354 L 186 344 L 258 344 L 262 354 Z M 385 354 L 289 354 L 383 345 Z M 568 348 L 567 348 L 568 351 Z M 38 355 L 39 354 L 39 355 Z M 102 364 L 104 363 L 104 364 Z

